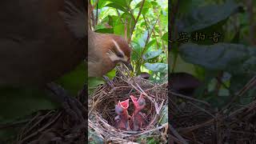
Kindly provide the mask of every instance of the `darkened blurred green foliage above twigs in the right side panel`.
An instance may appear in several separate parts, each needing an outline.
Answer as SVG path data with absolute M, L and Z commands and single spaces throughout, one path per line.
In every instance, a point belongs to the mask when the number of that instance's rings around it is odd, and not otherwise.
M 248 6 L 253 7 L 252 12 L 247 11 Z M 234 93 L 241 90 L 254 75 L 256 53 L 255 47 L 251 46 L 254 45 L 251 38 L 256 36 L 255 31 L 251 31 L 251 22 L 255 20 L 254 7 L 254 2 L 246 5 L 233 0 L 171 2 L 172 16 L 169 20 L 170 40 L 173 43 L 170 72 L 186 72 L 201 79 L 204 87 L 200 87 L 195 95 L 214 107 L 226 105 Z M 187 42 L 177 41 L 182 32 L 190 37 Z M 214 33 L 220 34 L 217 42 L 207 38 Z M 195 41 L 196 34 L 205 34 L 206 37 Z M 217 77 L 222 83 L 217 81 Z M 221 85 L 219 89 L 218 85 Z M 239 98 L 237 102 L 251 102 L 254 91 L 248 90 L 246 94 L 250 98 Z

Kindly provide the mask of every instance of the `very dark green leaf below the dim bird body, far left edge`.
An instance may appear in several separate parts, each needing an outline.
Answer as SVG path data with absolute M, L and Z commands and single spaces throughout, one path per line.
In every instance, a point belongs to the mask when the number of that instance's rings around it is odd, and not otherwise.
M 1 87 L 0 94 L 0 124 L 37 110 L 58 108 L 58 104 L 49 98 L 49 93 L 37 87 Z

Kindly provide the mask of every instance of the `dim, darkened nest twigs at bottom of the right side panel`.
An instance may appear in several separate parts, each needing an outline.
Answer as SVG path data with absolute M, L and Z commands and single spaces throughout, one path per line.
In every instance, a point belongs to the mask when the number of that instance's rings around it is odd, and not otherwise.
M 256 142 L 256 101 L 217 111 L 195 98 L 171 91 L 170 96 L 170 143 Z

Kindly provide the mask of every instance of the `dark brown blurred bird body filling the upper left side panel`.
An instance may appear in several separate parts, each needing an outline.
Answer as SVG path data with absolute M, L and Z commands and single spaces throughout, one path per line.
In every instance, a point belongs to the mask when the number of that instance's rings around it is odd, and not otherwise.
M 85 11 L 83 0 L 72 4 Z M 44 85 L 83 61 L 85 31 L 77 38 L 63 20 L 65 11 L 64 0 L 1 1 L 0 85 Z

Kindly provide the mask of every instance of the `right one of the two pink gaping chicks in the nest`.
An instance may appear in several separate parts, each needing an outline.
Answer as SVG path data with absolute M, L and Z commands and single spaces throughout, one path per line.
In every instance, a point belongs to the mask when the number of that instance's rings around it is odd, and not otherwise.
M 130 95 L 132 102 L 134 102 L 134 114 L 132 115 L 132 122 L 134 123 L 133 130 L 140 130 L 142 127 L 148 125 L 148 121 L 146 120 L 146 115 L 141 111 L 146 106 L 146 101 L 141 94 L 139 98 L 135 98 L 133 95 Z

